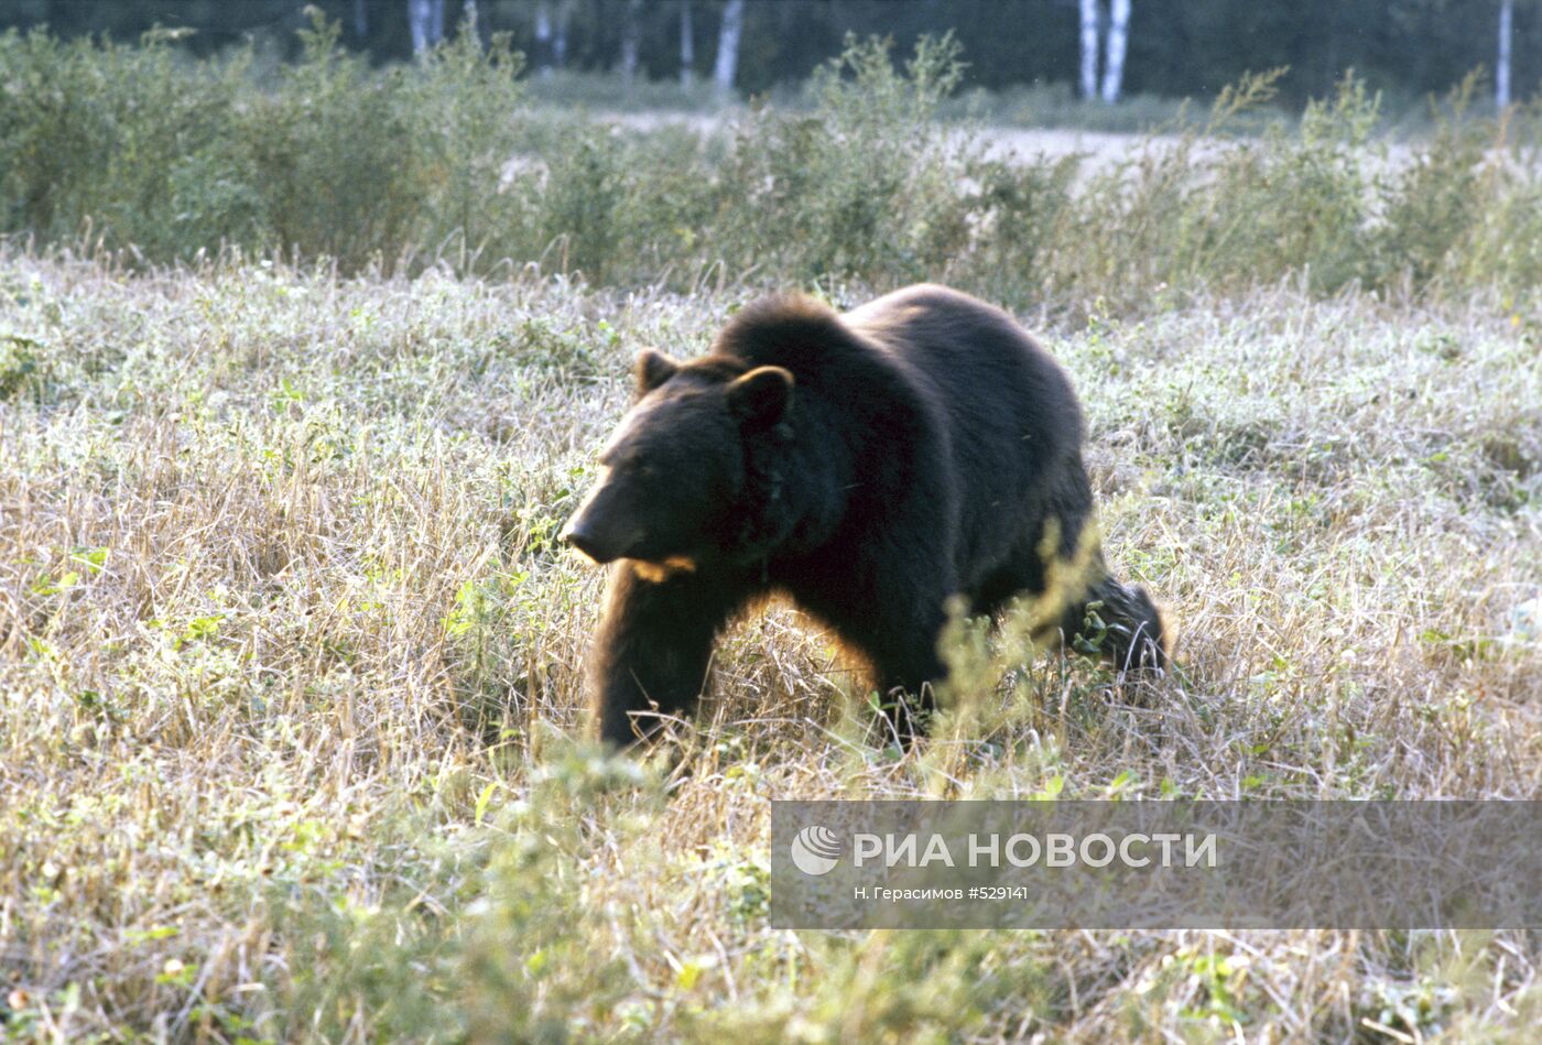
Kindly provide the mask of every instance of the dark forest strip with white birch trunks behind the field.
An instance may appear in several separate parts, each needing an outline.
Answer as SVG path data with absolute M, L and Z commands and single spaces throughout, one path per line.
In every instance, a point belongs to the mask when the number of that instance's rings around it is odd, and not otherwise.
M 401 60 L 475 15 L 509 32 L 535 69 L 717 82 L 752 94 L 800 82 L 847 34 L 901 49 L 951 31 L 968 83 L 1062 83 L 1089 97 L 1210 97 L 1243 72 L 1289 66 L 1288 102 L 1332 89 L 1345 69 L 1392 97 L 1442 92 L 1474 68 L 1502 103 L 1542 80 L 1542 0 L 311 0 L 350 48 Z M 190 28 L 216 52 L 256 35 L 293 46 L 299 0 L 0 0 L 0 26 L 133 39 Z

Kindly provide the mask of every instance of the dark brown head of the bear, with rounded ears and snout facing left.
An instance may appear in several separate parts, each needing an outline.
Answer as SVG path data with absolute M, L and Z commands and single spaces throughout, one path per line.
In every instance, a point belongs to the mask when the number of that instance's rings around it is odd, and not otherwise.
M 793 375 L 728 356 L 682 364 L 651 348 L 635 375 L 637 399 L 563 539 L 597 563 L 694 564 L 731 539 L 749 482 L 746 447 L 786 416 Z

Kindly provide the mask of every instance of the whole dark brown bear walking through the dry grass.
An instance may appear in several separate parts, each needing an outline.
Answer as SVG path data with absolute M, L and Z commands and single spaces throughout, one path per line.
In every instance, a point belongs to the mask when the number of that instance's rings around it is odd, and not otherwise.
M 563 533 L 615 564 L 589 675 L 600 737 L 626 744 L 648 712 L 689 711 L 717 633 L 774 593 L 865 657 L 907 741 L 945 674 L 954 595 L 990 613 L 1062 589 L 1078 647 L 1164 667 L 1150 596 L 1104 569 L 1081 442 L 1055 359 L 945 287 L 845 314 L 771 297 L 700 359 L 641 351 L 637 399 Z

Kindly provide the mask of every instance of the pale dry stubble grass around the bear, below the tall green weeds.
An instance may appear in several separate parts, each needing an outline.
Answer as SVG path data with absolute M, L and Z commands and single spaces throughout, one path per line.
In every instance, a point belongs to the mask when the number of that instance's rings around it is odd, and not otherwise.
M 1542 313 L 1055 328 L 1175 677 L 996 650 L 901 757 L 776 610 L 672 761 L 604 761 L 552 536 L 631 353 L 742 297 L 0 254 L 9 1036 L 1534 1033 L 1527 932 L 783 932 L 765 886 L 774 797 L 1542 797 Z

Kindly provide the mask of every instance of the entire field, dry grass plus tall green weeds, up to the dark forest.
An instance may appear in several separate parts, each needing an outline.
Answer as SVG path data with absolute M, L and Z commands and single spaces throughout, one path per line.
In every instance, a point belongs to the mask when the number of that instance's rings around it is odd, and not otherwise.
M 773 798 L 1542 798 L 1534 106 L 1388 163 L 1346 80 L 1212 148 L 1255 79 L 1089 168 L 936 119 L 945 45 L 700 133 L 307 40 L 0 37 L 8 1039 L 1534 1039 L 1534 931 L 766 923 Z M 1070 370 L 1178 669 L 959 626 L 901 752 L 774 609 L 672 746 L 588 748 L 555 535 L 634 353 L 916 279 Z

